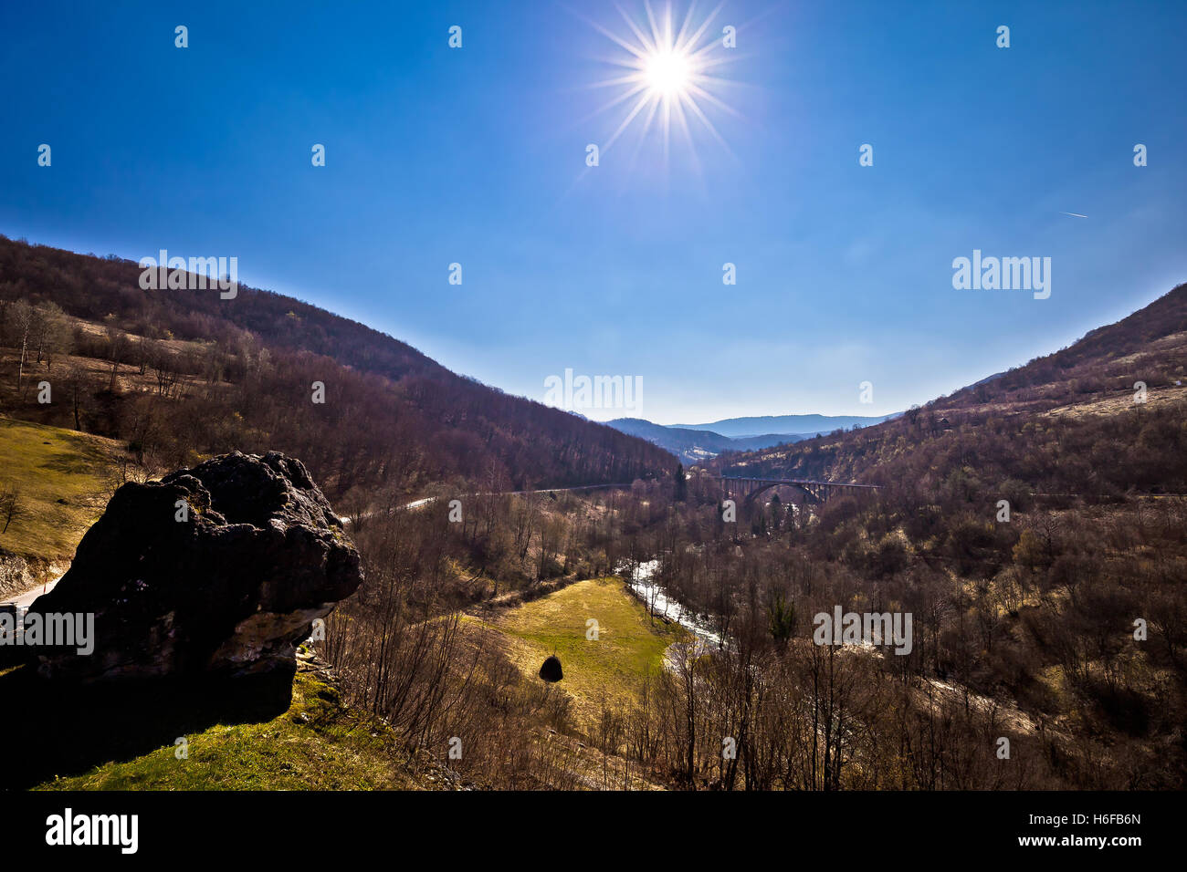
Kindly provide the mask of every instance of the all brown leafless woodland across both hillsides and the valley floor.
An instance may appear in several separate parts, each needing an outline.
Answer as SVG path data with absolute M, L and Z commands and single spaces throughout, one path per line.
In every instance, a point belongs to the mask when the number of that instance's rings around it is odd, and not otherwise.
M 1187 785 L 1187 286 L 884 424 L 677 471 L 294 300 L 167 297 L 137 275 L 0 240 L 4 410 L 160 467 L 304 458 L 354 515 L 366 568 L 323 653 L 395 755 L 491 788 Z M 824 505 L 780 489 L 730 521 L 723 471 L 883 488 Z M 634 484 L 466 496 L 463 479 Z M 462 522 L 389 498 L 442 483 Z M 673 645 L 629 704 L 579 717 L 488 618 L 640 565 L 722 644 Z M 814 644 L 836 606 L 909 612 L 910 653 Z

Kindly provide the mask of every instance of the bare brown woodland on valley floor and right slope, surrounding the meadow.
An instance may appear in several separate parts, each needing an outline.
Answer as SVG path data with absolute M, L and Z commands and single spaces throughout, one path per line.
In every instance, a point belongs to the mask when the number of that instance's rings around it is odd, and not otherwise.
M 605 787 L 634 768 L 684 788 L 1181 789 L 1185 300 L 886 424 L 684 479 L 487 497 L 464 524 L 444 507 L 369 518 L 367 586 L 331 654 L 412 745 L 463 737 L 459 769 L 494 787 L 590 785 L 551 727 L 615 756 Z M 730 523 L 718 471 L 884 486 L 824 507 L 781 489 Z M 647 560 L 725 644 L 677 648 L 592 725 L 456 617 Z M 837 605 L 910 612 L 912 651 L 813 644 Z

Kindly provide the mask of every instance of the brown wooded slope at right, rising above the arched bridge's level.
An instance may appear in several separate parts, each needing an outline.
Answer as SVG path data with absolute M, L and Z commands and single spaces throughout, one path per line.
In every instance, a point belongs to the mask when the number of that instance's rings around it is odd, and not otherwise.
M 794 446 L 734 454 L 728 472 L 857 480 L 961 497 L 1013 479 L 1087 499 L 1187 492 L 1187 285 L 1067 349 L 912 408 Z

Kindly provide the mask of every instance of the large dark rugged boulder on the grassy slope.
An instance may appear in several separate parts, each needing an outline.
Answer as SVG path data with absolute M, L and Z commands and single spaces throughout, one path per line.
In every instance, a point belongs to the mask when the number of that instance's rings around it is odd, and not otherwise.
M 358 552 L 300 460 L 223 454 L 115 492 L 30 609 L 94 613 L 94 653 L 26 656 L 43 677 L 291 685 L 296 643 L 361 581 Z

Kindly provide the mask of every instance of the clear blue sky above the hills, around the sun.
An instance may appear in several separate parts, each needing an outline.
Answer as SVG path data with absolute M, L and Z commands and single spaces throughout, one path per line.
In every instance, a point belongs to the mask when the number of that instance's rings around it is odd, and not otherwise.
M 106 6 L 0 11 L 0 233 L 237 256 L 534 399 L 642 377 L 592 418 L 886 414 L 1187 280 L 1187 4 L 728 1 L 724 146 L 693 120 L 665 155 L 636 119 L 592 168 L 629 106 L 590 87 L 621 72 L 612 4 Z M 1050 257 L 1050 298 L 953 289 L 973 249 Z

